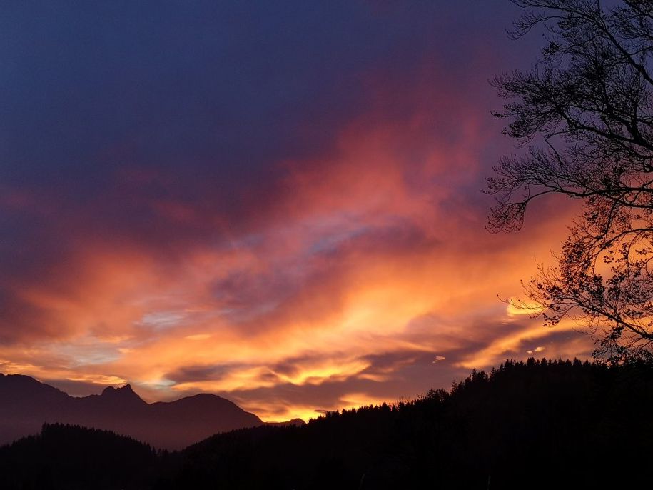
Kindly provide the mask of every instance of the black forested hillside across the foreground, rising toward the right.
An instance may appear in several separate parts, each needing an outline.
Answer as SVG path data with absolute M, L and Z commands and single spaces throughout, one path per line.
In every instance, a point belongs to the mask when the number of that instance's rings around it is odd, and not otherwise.
M 93 450 L 79 433 L 65 436 L 81 429 L 57 426 L 58 441 L 46 430 L 0 449 L 0 487 L 629 488 L 653 458 L 652 407 L 650 364 L 507 361 L 489 374 L 473 371 L 450 391 L 330 413 L 305 426 L 232 431 L 173 454 L 124 446 L 113 471 L 133 475 L 120 485 L 91 476 L 80 483 L 93 457 L 106 461 L 113 446 Z M 86 444 L 83 459 L 79 444 Z M 121 463 L 130 451 L 137 469 Z M 34 481 L 39 475 L 51 478 L 46 486 Z

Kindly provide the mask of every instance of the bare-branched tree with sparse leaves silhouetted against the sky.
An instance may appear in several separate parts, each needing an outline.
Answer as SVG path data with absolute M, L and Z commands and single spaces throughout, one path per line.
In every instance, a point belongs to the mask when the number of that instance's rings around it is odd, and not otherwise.
M 520 229 L 540 196 L 582 201 L 557 263 L 540 267 L 525 293 L 546 324 L 567 316 L 596 334 L 597 358 L 651 356 L 653 1 L 513 3 L 527 11 L 510 36 L 543 29 L 547 43 L 530 71 L 493 82 L 506 100 L 495 116 L 527 150 L 487 179 L 496 197 L 488 228 Z

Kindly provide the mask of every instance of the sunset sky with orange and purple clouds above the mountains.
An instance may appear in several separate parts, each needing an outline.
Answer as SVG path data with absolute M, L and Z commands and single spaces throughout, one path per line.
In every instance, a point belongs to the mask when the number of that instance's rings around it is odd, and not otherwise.
M 489 1 L 16 1 L 0 16 L 0 372 L 266 421 L 592 339 L 500 301 L 570 201 L 485 230 L 519 153 Z

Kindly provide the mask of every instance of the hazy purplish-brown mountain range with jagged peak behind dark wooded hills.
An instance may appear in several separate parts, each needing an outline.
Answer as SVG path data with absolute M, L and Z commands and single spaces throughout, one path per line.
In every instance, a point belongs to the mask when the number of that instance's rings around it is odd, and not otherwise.
M 126 385 L 76 398 L 29 376 L 0 374 L 0 444 L 37 434 L 44 423 L 106 429 L 163 449 L 263 425 L 258 416 L 211 394 L 148 404 Z

